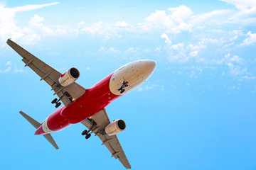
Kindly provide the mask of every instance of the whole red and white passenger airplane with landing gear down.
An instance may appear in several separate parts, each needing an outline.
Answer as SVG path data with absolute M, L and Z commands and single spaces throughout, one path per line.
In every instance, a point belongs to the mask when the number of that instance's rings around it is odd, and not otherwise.
M 126 123 L 122 119 L 114 120 L 111 123 L 105 108 L 115 99 L 136 89 L 149 79 L 156 68 L 156 62 L 153 60 L 130 62 L 112 72 L 90 89 L 85 89 L 75 83 L 80 77 L 77 68 L 72 67 L 60 74 L 11 39 L 8 39 L 6 43 L 18 55 L 21 55 L 25 67 L 30 67 L 41 77 L 41 81 L 44 80 L 50 85 L 51 90 L 55 92 L 53 95 L 58 96 L 51 102 L 55 104 L 55 108 L 61 105 L 60 101 L 64 104 L 43 120 L 43 123 L 38 123 L 23 111 L 19 112 L 36 128 L 34 135 L 43 135 L 55 149 L 58 149 L 59 147 L 50 133 L 58 132 L 75 123 L 82 123 L 88 128 L 88 130 L 82 131 L 85 139 L 95 133 L 95 136 L 102 140 L 102 145 L 110 150 L 111 157 L 118 158 L 126 169 L 131 169 L 117 139 L 117 134 L 125 130 Z

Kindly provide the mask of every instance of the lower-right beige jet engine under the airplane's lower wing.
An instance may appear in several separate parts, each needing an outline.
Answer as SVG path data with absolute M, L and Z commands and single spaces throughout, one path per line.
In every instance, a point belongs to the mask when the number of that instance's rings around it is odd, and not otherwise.
M 119 119 L 107 125 L 105 128 L 105 132 L 107 135 L 112 136 L 112 135 L 116 135 L 119 132 L 124 131 L 125 128 L 126 128 L 126 124 L 124 120 Z

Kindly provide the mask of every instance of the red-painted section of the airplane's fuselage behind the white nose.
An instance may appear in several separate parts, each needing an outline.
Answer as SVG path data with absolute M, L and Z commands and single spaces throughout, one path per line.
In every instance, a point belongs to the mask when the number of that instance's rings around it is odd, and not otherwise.
M 112 94 L 110 91 L 110 74 L 102 81 L 87 89 L 85 94 L 78 98 L 68 106 L 63 106 L 57 111 L 49 115 L 47 125 L 50 131 L 56 132 L 67 128 L 71 124 L 80 123 L 82 120 L 89 118 L 95 113 L 105 109 L 115 99 L 119 98 L 120 95 Z M 43 130 L 41 125 L 36 130 L 35 135 L 45 135 L 47 132 Z

